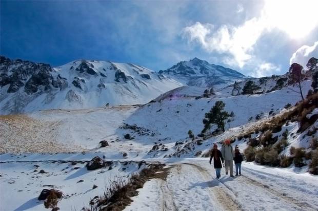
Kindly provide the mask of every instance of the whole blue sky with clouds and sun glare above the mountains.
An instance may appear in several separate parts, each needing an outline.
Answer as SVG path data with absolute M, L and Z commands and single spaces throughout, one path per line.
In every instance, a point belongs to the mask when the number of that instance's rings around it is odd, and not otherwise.
M 246 75 L 283 74 L 290 62 L 318 57 L 317 2 L 1 1 L 0 53 L 155 71 L 198 57 Z

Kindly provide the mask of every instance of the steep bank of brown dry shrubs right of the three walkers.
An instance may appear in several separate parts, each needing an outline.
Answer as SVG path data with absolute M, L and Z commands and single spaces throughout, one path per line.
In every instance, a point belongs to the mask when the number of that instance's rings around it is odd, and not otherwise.
M 318 105 L 318 93 L 315 93 L 311 96 L 308 96 L 304 101 L 299 102 L 296 106 L 289 111 L 276 115 L 270 120 L 263 122 L 262 124 L 256 125 L 257 128 L 253 128 L 249 132 L 245 132 L 244 134 L 240 134 L 237 138 L 242 138 L 244 136 L 253 134 L 255 130 L 261 131 L 263 134 L 260 135 L 259 141 L 257 139 L 249 139 L 249 146 L 244 151 L 245 157 L 247 161 L 255 161 L 262 165 L 280 165 L 282 167 L 288 167 L 293 162 L 296 167 L 302 167 L 306 165 L 304 163 L 304 159 L 312 159 L 312 163 L 310 167 L 310 173 L 314 173 L 318 166 L 315 167 L 316 160 L 314 160 L 313 151 L 305 152 L 303 148 L 290 148 L 291 157 L 281 156 L 279 154 L 284 150 L 284 148 L 288 145 L 287 142 L 287 134 L 285 131 L 282 135 L 283 138 L 277 141 L 278 137 L 272 138 L 272 133 L 276 133 L 282 130 L 282 126 L 287 121 L 298 121 L 300 124 L 300 129 L 297 133 L 302 133 L 307 130 L 315 121 L 318 119 L 318 115 L 312 115 L 310 118 L 307 118 L 307 115 L 310 114 Z M 316 133 L 316 128 L 310 129 L 307 135 L 313 135 Z M 275 139 L 276 138 L 276 139 Z M 276 142 L 276 143 L 275 143 Z M 263 147 L 256 150 L 254 147 L 262 144 Z M 316 137 L 313 137 L 311 140 L 311 149 L 316 149 L 318 143 Z M 315 158 L 316 159 L 316 158 Z

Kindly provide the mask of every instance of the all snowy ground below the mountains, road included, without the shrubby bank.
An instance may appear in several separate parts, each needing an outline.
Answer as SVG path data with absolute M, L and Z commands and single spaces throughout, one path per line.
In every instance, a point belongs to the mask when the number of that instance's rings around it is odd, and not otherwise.
M 310 83 L 305 82 L 304 93 Z M 101 196 L 110 182 L 139 172 L 144 166 L 138 168 L 136 162 L 141 160 L 166 163 L 169 173 L 166 179 L 147 181 L 125 210 L 318 210 L 318 177 L 306 172 L 308 166 L 278 168 L 243 162 L 242 176 L 225 176 L 223 168 L 222 177 L 216 180 L 208 158 L 195 155 L 282 114 L 284 106 L 294 105 L 300 95 L 283 88 L 232 96 L 226 88 L 195 99 L 203 91 L 177 88 L 139 106 L 0 116 L 0 210 L 44 210 L 43 202 L 37 201 L 43 188 L 64 193 L 58 202 L 61 210 L 81 210 L 89 207 L 90 199 Z M 226 123 L 225 133 L 194 144 L 194 150 L 179 154 L 180 158 L 167 159 L 191 143 L 189 130 L 194 135 L 201 132 L 205 113 L 218 100 L 225 102 L 227 112 L 235 114 Z M 317 127 L 317 122 L 313 126 Z M 282 155 L 288 155 L 291 146 L 309 147 L 309 138 L 303 138 L 307 131 L 296 133 L 296 122 L 283 125 L 274 135 L 282 136 L 285 129 L 290 132 L 289 145 Z M 133 139 L 124 138 L 126 134 Z M 109 145 L 101 147 L 102 140 Z M 177 141 L 182 144 L 176 145 Z M 241 152 L 247 146 L 245 139 L 234 144 Z M 151 151 L 154 145 L 159 149 Z M 85 162 L 95 156 L 113 161 L 111 168 L 87 171 Z M 45 173 L 39 173 L 41 170 Z M 98 187 L 93 189 L 93 185 Z

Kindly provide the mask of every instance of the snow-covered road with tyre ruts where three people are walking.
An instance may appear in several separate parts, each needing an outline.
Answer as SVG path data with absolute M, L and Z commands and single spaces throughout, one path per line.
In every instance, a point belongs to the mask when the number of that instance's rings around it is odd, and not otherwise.
M 318 210 L 318 177 L 243 164 L 243 176 L 215 179 L 207 160 L 169 164 L 166 181 L 153 179 L 127 210 Z

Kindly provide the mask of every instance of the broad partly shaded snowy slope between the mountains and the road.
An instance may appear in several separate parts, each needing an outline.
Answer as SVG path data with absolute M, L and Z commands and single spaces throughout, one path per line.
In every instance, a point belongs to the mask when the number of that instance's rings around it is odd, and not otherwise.
M 309 90 L 310 83 L 310 80 L 304 82 L 304 92 Z M 226 123 L 226 132 L 208 141 L 209 145 L 214 141 L 237 134 L 241 131 L 241 127 L 247 128 L 248 125 L 252 126 L 255 122 L 262 122 L 262 119 L 279 114 L 285 111 L 284 106 L 287 103 L 295 104 L 301 99 L 299 94 L 290 91 L 288 87 L 265 94 L 238 96 L 232 96 L 225 89 L 208 98 L 200 99 L 195 98 L 195 94 L 201 92 L 196 87 L 178 88 L 175 92 L 172 94 L 169 92 L 169 95 L 164 95 L 165 97 L 161 100 L 143 106 L 35 112 L 26 117 L 29 118 L 25 121 L 30 122 L 29 127 L 22 126 L 22 120 L 14 121 L 17 118 L 15 116 L 13 120 L 2 117 L 0 127 L 3 134 L 0 141 L 10 144 L 3 144 L 1 151 L 34 152 L 32 144 L 35 149 L 40 143 L 45 145 L 47 139 L 41 138 L 45 131 L 50 135 L 53 143 L 62 145 L 53 144 L 54 147 L 42 147 L 42 151 L 39 152 L 58 152 L 63 146 L 67 146 L 64 147 L 63 152 L 102 151 L 107 152 L 107 157 L 111 159 L 121 157 L 123 152 L 127 152 L 128 157 L 140 159 L 152 156 L 164 157 L 176 151 L 174 147 L 176 141 L 188 140 L 189 130 L 192 130 L 194 135 L 202 131 L 202 119 L 205 113 L 214 106 L 215 101 L 225 102 L 225 110 L 233 111 L 235 116 L 231 122 Z M 261 117 L 261 120 L 255 119 L 257 115 Z M 34 126 L 31 122 L 34 122 L 32 123 Z M 123 127 L 124 123 L 136 125 L 136 127 Z M 43 130 L 36 128 L 36 125 L 43 125 Z M 51 130 L 48 130 L 45 125 L 48 125 Z M 215 129 L 214 126 L 211 131 L 213 129 Z M 125 134 L 130 134 L 134 139 L 125 139 Z M 28 145 L 22 144 L 23 139 Z M 104 139 L 110 143 L 110 146 L 99 148 L 99 142 Z M 169 150 L 158 154 L 148 154 L 155 143 L 162 143 Z M 15 149 L 12 149 L 10 145 L 14 145 Z M 205 150 L 205 145 L 202 145 L 203 149 L 198 147 L 197 150 Z M 165 147 L 163 146 L 163 149 Z M 192 157 L 194 154 L 195 152 L 191 152 L 184 156 Z

